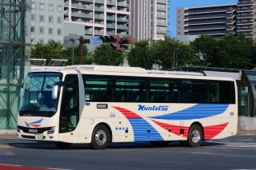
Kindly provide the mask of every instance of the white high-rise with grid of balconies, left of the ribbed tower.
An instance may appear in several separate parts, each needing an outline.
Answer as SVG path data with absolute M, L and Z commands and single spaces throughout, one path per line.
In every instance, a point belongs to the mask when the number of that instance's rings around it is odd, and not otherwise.
M 130 0 L 65 0 L 64 22 L 66 34 L 128 36 Z

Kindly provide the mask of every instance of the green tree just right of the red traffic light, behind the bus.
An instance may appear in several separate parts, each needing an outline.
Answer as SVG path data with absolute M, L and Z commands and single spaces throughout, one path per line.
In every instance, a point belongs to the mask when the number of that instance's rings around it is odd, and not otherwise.
M 127 61 L 132 67 L 151 69 L 150 43 L 148 41 L 134 42 L 134 48 L 128 53 Z

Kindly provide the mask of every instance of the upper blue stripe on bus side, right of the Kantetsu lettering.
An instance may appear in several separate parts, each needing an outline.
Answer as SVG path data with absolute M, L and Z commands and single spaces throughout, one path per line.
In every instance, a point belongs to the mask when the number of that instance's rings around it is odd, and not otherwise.
M 161 116 L 150 117 L 162 120 L 192 120 L 206 117 L 214 117 L 224 113 L 229 105 L 224 104 L 198 104 L 175 113 L 168 113 Z

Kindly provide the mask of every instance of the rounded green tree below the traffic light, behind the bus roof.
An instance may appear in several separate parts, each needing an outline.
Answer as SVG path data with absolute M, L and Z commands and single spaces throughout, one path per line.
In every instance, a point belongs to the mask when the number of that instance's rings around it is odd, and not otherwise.
M 97 65 L 120 65 L 123 59 L 122 52 L 114 50 L 109 44 L 102 44 L 94 50 L 94 62 Z

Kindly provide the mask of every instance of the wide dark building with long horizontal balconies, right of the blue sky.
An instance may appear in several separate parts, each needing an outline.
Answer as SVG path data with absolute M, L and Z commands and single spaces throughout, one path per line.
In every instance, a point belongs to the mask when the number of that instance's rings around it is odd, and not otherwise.
M 206 34 L 215 38 L 236 34 L 236 4 L 176 10 L 176 35 Z

